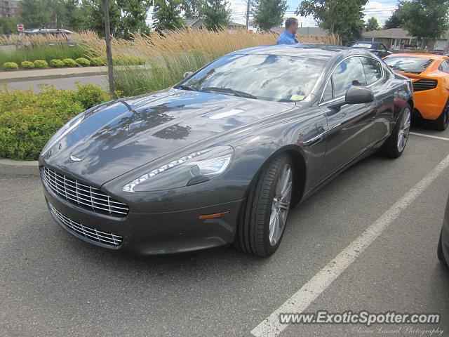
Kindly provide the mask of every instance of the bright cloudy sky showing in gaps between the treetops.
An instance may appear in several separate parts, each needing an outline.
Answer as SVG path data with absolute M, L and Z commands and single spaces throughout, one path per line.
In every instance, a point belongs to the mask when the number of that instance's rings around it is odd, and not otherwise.
M 246 0 L 228 0 L 231 9 L 232 16 L 231 20 L 239 23 L 246 23 L 245 13 L 246 13 Z M 306 17 L 302 18 L 300 16 L 295 15 L 295 10 L 297 6 L 300 4 L 300 0 L 287 0 L 288 9 L 286 13 L 286 18 L 295 17 L 299 20 L 300 25 L 302 27 L 316 27 L 316 22 L 314 18 Z M 376 0 L 376 1 L 368 1 L 368 4 L 365 6 L 365 21 L 367 21 L 371 17 L 375 17 L 379 25 L 384 25 L 385 20 L 391 16 L 391 12 L 396 8 L 397 0 Z

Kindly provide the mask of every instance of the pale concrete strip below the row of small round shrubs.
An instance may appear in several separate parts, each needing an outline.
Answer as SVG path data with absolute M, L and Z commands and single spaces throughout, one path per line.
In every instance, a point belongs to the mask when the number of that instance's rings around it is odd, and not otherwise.
M 33 81 L 36 79 L 58 79 L 62 77 L 80 77 L 102 75 L 107 73 L 106 67 L 48 68 L 41 70 L 18 70 L 16 72 L 0 72 L 0 83 L 14 81 Z

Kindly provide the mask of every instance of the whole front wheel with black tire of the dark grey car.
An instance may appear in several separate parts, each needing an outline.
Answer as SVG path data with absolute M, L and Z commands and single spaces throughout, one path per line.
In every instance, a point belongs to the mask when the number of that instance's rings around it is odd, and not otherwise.
M 237 249 L 260 257 L 270 256 L 278 249 L 292 199 L 293 170 L 293 161 L 287 154 L 272 159 L 262 169 L 241 211 L 234 239 Z M 283 188 L 282 183 L 286 184 Z

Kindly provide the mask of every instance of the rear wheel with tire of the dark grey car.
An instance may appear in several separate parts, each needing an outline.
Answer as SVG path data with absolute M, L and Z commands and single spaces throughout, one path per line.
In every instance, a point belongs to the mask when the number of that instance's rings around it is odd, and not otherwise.
M 410 105 L 406 104 L 394 125 L 393 131 L 384 145 L 382 146 L 381 153 L 385 157 L 397 158 L 406 149 L 408 133 L 410 132 L 410 121 L 412 117 L 412 110 Z M 401 139 L 403 143 L 401 142 Z

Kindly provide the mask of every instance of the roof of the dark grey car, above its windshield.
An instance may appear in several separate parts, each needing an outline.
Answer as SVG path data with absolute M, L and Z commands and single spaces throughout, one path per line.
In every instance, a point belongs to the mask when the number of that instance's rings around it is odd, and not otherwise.
M 302 58 L 314 58 L 316 60 L 327 61 L 339 54 L 365 54 L 367 51 L 360 48 L 351 48 L 344 46 L 328 46 L 323 44 L 276 44 L 273 46 L 260 46 L 234 51 L 231 54 L 266 54 L 266 55 L 284 55 Z

